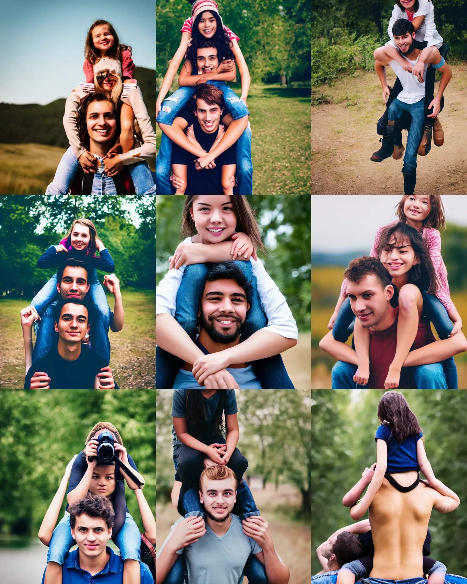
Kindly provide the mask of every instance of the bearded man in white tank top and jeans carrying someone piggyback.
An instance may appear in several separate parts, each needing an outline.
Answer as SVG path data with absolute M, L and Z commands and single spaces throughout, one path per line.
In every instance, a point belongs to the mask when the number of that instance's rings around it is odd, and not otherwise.
M 389 155 L 387 151 L 391 149 L 391 144 L 393 145 L 393 158 L 402 158 L 404 148 L 402 146 L 402 134 L 400 130 L 402 128 L 410 128 L 409 134 L 407 135 L 402 173 L 404 176 L 404 193 L 413 194 L 417 182 L 417 152 L 419 151 L 426 116 L 426 71 L 431 65 L 431 67 L 438 69 L 441 73 L 441 81 L 437 95 L 428 105 L 428 110 L 433 108 L 433 112 L 428 114 L 427 117 L 433 120 L 440 113 L 442 94 L 452 77 L 452 72 L 449 65 L 444 61 L 444 58 L 441 57 L 438 49 L 434 46 L 429 49 L 424 49 L 423 54 L 426 56 L 423 57 L 424 62 L 420 61 L 421 50 L 414 47 L 415 32 L 410 20 L 396 20 L 392 27 L 392 33 L 400 54 L 414 68 L 412 72 L 405 71 L 397 61 L 389 61 L 384 52 L 384 47 L 379 47 L 375 50 L 375 71 L 381 82 L 385 102 L 388 101 L 390 95 L 386 83 L 386 65 L 390 65 L 398 76 L 403 91 L 392 101 L 388 109 L 388 124 L 385 132 L 387 138 L 385 154 L 381 154 L 380 151 L 375 152 L 371 159 L 378 162 L 387 158 L 387 155 Z M 414 73 L 417 75 L 415 76 Z

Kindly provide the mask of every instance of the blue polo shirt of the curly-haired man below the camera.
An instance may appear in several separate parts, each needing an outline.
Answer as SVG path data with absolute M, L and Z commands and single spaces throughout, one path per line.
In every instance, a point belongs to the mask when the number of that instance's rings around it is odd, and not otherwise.
M 63 565 L 63 582 L 62 584 L 122 584 L 123 582 L 123 559 L 120 555 L 106 547 L 107 554 L 110 554 L 109 561 L 105 568 L 97 574 L 91 576 L 86 570 L 79 567 L 79 550 L 71 551 L 65 558 Z M 141 584 L 154 584 L 151 571 L 146 564 L 140 562 L 141 567 Z M 42 576 L 42 584 L 44 584 L 44 575 Z

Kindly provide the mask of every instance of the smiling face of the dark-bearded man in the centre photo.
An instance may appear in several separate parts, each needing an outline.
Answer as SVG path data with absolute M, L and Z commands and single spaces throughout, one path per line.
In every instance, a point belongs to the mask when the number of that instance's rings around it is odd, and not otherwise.
M 216 343 L 238 339 L 250 305 L 235 280 L 206 282 L 201 297 L 201 326 Z

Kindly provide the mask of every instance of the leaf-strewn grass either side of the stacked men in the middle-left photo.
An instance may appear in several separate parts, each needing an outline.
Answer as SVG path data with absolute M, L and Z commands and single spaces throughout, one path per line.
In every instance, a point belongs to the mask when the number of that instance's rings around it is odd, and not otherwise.
M 155 292 L 122 291 L 125 324 L 109 331 L 110 367 L 121 389 L 154 388 Z M 113 310 L 114 300 L 107 294 Z M 19 390 L 25 381 L 25 353 L 19 311 L 27 300 L 0 298 L 0 389 Z M 33 335 L 33 342 L 35 338 Z

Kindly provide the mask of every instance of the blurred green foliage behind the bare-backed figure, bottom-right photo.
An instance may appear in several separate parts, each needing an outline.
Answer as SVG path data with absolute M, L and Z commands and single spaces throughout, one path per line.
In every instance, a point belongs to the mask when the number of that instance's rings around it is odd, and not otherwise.
M 431 557 L 448 573 L 467 575 L 465 429 L 467 394 L 455 391 L 402 391 L 424 432 L 425 449 L 435 477 L 458 493 L 452 513 L 433 511 Z M 342 498 L 376 462 L 377 405 L 383 391 L 312 391 L 312 569 L 321 569 L 316 548 L 334 531 L 353 523 Z M 455 413 L 455 415 L 454 415 Z M 362 519 L 367 519 L 365 514 Z

